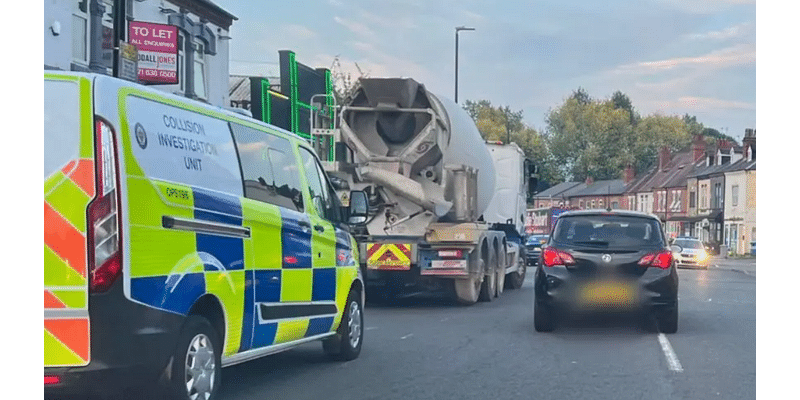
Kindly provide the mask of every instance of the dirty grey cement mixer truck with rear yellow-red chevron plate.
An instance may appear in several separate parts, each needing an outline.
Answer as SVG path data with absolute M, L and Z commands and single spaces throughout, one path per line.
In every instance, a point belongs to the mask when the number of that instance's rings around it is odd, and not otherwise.
M 353 232 L 367 301 L 444 291 L 469 305 L 522 286 L 536 176 L 516 144 L 485 142 L 461 107 L 406 78 L 361 79 L 338 120 L 326 169 L 344 203 L 368 195 Z

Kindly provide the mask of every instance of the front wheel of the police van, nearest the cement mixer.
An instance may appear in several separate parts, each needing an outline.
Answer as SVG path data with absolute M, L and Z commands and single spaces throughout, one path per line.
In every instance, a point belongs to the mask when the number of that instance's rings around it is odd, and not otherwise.
M 322 341 L 325 354 L 337 361 L 355 360 L 364 343 L 364 308 L 355 289 L 350 290 L 346 304 L 336 335 Z

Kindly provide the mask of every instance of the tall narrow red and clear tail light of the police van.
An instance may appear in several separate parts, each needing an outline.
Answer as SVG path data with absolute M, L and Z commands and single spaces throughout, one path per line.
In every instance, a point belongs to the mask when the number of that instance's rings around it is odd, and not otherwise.
M 107 291 L 122 273 L 120 250 L 119 170 L 114 131 L 101 119 L 95 122 L 97 195 L 89 203 L 89 289 Z

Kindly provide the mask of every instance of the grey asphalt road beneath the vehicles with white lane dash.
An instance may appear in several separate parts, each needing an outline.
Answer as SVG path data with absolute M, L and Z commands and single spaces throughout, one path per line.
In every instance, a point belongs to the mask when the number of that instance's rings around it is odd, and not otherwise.
M 320 344 L 306 344 L 223 369 L 220 398 L 755 399 L 755 276 L 679 274 L 676 334 L 624 316 L 537 333 L 528 274 L 521 290 L 491 303 L 368 306 L 360 358 L 328 361 Z

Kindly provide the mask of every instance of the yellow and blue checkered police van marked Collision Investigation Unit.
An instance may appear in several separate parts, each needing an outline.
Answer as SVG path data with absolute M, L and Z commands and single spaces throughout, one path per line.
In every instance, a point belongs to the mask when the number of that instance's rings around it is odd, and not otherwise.
M 358 357 L 364 291 L 348 224 L 366 215 L 366 195 L 343 208 L 289 132 L 45 71 L 45 397 L 157 387 L 208 399 L 221 367 L 309 341 Z

